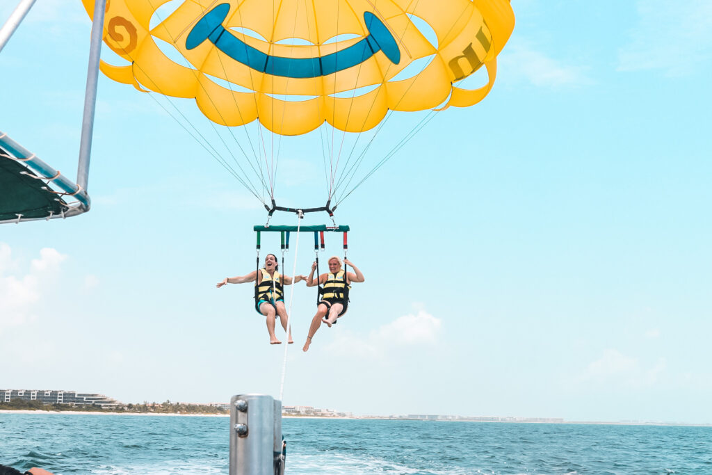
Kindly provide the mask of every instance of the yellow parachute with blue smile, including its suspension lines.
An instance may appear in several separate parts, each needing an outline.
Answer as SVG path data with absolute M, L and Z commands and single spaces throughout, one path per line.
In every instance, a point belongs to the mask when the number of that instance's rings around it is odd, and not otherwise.
M 83 3 L 91 16 L 93 0 Z M 234 168 L 200 132 L 191 135 L 268 210 L 264 193 L 274 208 L 282 137 L 319 129 L 331 212 L 436 111 L 474 105 L 489 93 L 513 26 L 508 0 L 110 0 L 104 41 L 126 63 L 102 63 L 101 70 L 168 98 L 168 109 L 181 102 L 172 98 L 193 99 L 214 130 L 256 127 L 246 140 L 229 134 L 262 197 L 246 167 L 235 161 Z M 482 66 L 486 84 L 461 87 Z M 428 115 L 357 177 L 392 111 Z M 365 132 L 372 135 L 362 139 Z M 347 135 L 353 147 L 340 167 Z M 365 146 L 356 151 L 359 141 Z

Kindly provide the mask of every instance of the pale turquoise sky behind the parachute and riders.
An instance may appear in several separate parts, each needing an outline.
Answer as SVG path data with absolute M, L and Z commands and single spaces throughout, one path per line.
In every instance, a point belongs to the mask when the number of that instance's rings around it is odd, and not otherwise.
M 315 293 L 295 288 L 283 402 L 712 423 L 712 4 L 512 6 L 488 98 L 436 115 L 338 209 L 366 282 L 307 354 Z M 89 33 L 79 1 L 38 0 L 0 54 L 0 130 L 70 178 Z M 286 143 L 278 195 L 321 204 L 318 140 Z M 277 396 L 283 345 L 251 286 L 215 288 L 253 270 L 259 202 L 104 76 L 88 191 L 83 216 L 0 226 L 0 387 Z M 263 255 L 278 244 L 264 237 Z

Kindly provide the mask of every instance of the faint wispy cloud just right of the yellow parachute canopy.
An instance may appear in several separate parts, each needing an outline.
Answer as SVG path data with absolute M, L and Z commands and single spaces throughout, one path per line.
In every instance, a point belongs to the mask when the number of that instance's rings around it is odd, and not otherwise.
M 540 88 L 562 88 L 589 85 L 585 66 L 570 66 L 523 43 L 508 45 L 499 56 L 503 78 L 526 80 Z

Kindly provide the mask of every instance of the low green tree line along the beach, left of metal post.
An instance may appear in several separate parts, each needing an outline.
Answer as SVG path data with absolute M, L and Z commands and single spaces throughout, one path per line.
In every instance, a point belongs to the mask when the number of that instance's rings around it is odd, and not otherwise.
M 100 407 L 93 404 L 43 404 L 41 401 L 12 400 L 0 402 L 0 409 L 41 410 L 41 411 L 90 411 L 90 412 L 147 412 L 149 414 L 229 414 L 222 407 L 207 404 L 185 404 L 182 402 L 147 402 L 142 404 L 120 404 L 116 407 Z

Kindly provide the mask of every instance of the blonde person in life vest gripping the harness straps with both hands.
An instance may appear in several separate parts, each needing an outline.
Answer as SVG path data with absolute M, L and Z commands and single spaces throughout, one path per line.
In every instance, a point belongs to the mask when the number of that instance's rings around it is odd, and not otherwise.
M 304 343 L 304 348 L 302 348 L 304 351 L 309 349 L 311 340 L 322 322 L 331 328 L 331 325 L 336 323 L 336 319 L 346 313 L 349 303 L 350 283 L 363 282 L 366 280 L 363 273 L 361 273 L 351 261 L 344 259 L 344 263 L 347 266 L 351 266 L 354 271 L 343 271 L 341 268 L 341 259 L 334 256 L 329 259 L 329 272 L 321 274 L 319 278 L 314 278 L 316 261 L 312 264 L 312 271 L 306 278 L 307 287 L 321 284 L 322 287 L 319 289 L 321 300 L 317 305 L 316 315 L 314 315 L 309 327 L 309 335 L 307 336 L 306 343 Z

